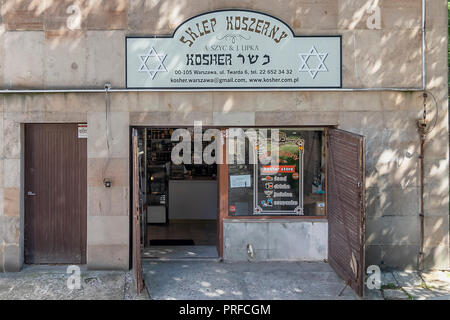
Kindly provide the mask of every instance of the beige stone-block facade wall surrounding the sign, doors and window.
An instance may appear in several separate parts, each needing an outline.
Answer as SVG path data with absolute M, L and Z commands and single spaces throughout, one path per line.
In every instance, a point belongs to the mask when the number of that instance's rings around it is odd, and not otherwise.
M 67 28 L 69 4 L 82 10 Z M 205 11 L 248 8 L 297 34 L 343 36 L 344 87 L 420 87 L 421 1 L 379 1 L 381 29 L 367 27 L 370 0 L 1 1 L 0 87 L 125 86 L 125 35 L 170 34 Z M 427 1 L 427 88 L 439 118 L 425 152 L 426 266 L 449 266 L 447 2 Z M 367 263 L 414 268 L 419 251 L 422 94 L 408 92 L 201 92 L 112 94 L 106 149 L 102 94 L 0 96 L 0 269 L 21 265 L 20 126 L 88 122 L 88 266 L 128 267 L 130 125 L 339 125 L 367 137 Z M 107 161 L 109 159 L 109 161 Z M 113 188 L 103 189 L 107 165 Z

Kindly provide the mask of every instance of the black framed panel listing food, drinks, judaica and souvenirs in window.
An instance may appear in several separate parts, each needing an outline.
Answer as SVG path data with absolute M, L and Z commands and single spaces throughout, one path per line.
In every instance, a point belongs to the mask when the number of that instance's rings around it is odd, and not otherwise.
M 280 130 L 277 139 L 279 160 L 269 161 L 270 151 L 256 153 L 254 214 L 303 215 L 304 139 L 295 130 Z

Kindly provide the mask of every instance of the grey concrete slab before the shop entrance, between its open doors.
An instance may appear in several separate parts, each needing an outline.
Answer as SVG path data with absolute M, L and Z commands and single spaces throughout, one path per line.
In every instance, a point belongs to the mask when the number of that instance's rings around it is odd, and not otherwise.
M 143 266 L 150 296 L 155 300 L 357 298 L 328 264 L 320 262 L 146 260 Z

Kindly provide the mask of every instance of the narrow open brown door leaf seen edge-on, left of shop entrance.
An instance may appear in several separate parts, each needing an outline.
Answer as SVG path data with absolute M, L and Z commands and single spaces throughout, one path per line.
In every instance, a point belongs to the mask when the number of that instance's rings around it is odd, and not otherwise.
M 139 150 L 138 150 L 138 133 L 136 129 L 133 129 L 132 133 L 132 157 L 133 157 L 133 199 L 132 199 L 132 212 L 133 212 L 133 269 L 136 280 L 137 293 L 140 294 L 144 288 L 144 275 L 142 272 L 142 240 L 141 240 L 141 206 L 139 201 Z

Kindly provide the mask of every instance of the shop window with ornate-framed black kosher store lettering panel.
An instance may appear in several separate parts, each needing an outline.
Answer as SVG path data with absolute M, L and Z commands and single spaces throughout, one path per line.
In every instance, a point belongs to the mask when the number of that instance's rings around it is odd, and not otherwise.
M 325 216 L 323 130 L 250 130 L 227 139 L 228 214 Z

